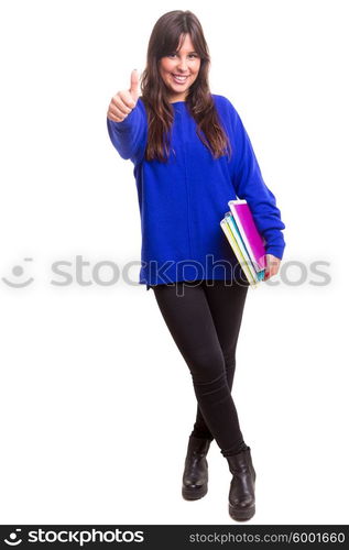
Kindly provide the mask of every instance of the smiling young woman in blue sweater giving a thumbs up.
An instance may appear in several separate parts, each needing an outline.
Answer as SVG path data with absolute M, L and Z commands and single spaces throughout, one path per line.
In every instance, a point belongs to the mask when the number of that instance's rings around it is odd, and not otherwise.
M 209 53 L 190 11 L 162 15 L 152 31 L 139 94 L 111 99 L 107 125 L 134 165 L 142 228 L 140 284 L 153 289 L 193 378 L 197 414 L 182 494 L 207 493 L 206 455 L 215 439 L 232 480 L 229 514 L 255 512 L 255 471 L 231 396 L 236 348 L 249 284 L 220 228 L 228 200 L 247 199 L 265 240 L 264 280 L 277 273 L 285 228 L 232 103 L 209 90 Z

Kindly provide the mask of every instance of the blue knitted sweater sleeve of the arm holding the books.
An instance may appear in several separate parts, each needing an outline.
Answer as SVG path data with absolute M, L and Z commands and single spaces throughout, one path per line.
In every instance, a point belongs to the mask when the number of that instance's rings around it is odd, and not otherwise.
M 237 196 L 246 199 L 255 226 L 265 239 L 266 254 L 282 260 L 285 240 L 282 230 L 285 224 L 273 193 L 265 185 L 250 138 L 235 107 L 227 99 L 230 111 L 232 138 L 232 184 Z

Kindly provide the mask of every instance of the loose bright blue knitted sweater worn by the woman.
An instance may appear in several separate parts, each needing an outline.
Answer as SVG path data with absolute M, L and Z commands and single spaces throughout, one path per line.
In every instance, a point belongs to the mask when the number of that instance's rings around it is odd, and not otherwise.
M 265 239 L 265 251 L 282 258 L 285 241 L 280 210 L 266 187 L 250 139 L 232 103 L 212 98 L 230 139 L 232 155 L 214 158 L 196 134 L 185 101 L 172 103 L 174 123 L 167 163 L 145 161 L 148 120 L 141 98 L 122 122 L 107 118 L 110 140 L 133 163 L 141 216 L 139 284 L 229 279 L 238 261 L 220 227 L 228 200 L 246 199 Z M 242 277 L 243 278 L 243 277 Z

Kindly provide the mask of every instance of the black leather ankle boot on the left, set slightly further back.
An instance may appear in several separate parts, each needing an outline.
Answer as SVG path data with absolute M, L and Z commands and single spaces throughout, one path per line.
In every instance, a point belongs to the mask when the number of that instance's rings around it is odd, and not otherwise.
M 209 439 L 189 436 L 182 481 L 182 496 L 186 501 L 196 501 L 207 493 L 208 464 L 206 454 L 210 442 Z

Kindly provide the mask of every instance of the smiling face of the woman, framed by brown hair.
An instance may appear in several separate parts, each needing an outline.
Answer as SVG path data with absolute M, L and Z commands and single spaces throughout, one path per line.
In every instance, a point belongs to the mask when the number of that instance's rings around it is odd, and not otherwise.
M 189 34 L 181 50 L 160 59 L 160 75 L 168 90 L 168 100 L 185 101 L 192 84 L 199 73 L 201 59 L 195 52 Z

